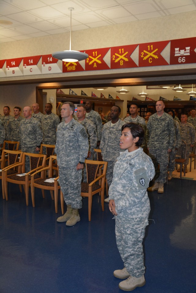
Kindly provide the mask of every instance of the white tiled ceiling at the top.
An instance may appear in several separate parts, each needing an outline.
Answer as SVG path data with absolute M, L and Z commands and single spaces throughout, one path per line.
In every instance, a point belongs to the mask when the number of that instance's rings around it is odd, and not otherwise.
M 0 0 L 0 43 L 196 10 L 195 0 Z M 12 24 L 3 24 L 4 21 Z

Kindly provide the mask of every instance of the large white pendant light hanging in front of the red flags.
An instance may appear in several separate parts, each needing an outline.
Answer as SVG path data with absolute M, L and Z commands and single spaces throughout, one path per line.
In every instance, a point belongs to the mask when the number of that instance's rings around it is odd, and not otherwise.
M 74 10 L 74 7 L 69 7 L 68 9 L 70 10 L 70 49 L 52 53 L 52 57 L 65 61 L 65 62 L 77 62 L 77 61 L 85 60 L 86 58 L 89 57 L 89 55 L 79 51 L 71 50 L 71 12 L 72 10 Z

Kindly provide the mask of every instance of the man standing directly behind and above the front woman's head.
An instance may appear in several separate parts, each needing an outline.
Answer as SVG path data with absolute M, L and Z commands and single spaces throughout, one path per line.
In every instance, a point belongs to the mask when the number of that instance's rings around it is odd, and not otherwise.
M 144 133 L 146 133 L 146 123 L 145 123 L 145 119 L 144 118 L 142 118 L 142 117 L 140 117 L 139 115 L 138 115 L 138 104 L 135 104 L 135 103 L 133 103 L 133 104 L 131 104 L 130 105 L 130 109 L 129 109 L 129 111 L 130 111 L 130 116 L 128 116 L 128 117 L 126 117 L 125 119 L 124 119 L 124 122 L 125 123 L 129 123 L 129 122 L 134 122 L 134 123 L 136 123 L 136 124 L 139 124 L 140 126 L 142 126 L 143 127 L 143 129 L 144 129 Z M 125 124 L 124 123 L 124 124 Z M 144 134 L 144 140 L 143 140 L 143 143 L 142 143 L 142 145 L 141 145 L 141 148 L 144 148 L 145 147 L 145 134 Z

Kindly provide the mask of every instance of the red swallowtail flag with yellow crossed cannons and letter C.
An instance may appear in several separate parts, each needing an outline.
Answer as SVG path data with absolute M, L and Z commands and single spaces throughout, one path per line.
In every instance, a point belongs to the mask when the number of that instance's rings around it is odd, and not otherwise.
M 169 65 L 161 56 L 161 52 L 169 41 L 150 42 L 139 45 L 139 67 Z

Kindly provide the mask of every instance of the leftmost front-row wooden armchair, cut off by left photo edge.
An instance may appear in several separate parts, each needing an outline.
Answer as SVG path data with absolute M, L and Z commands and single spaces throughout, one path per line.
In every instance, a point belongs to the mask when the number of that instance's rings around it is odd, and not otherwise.
M 21 151 L 9 151 L 3 149 L 1 161 L 1 171 L 0 171 L 0 179 L 2 179 L 2 196 L 5 199 L 5 187 L 4 187 L 4 168 L 6 167 L 6 162 L 8 166 L 13 166 L 18 161 L 21 162 L 22 160 L 22 152 Z M 17 168 L 13 168 L 7 171 L 8 175 L 16 174 Z

